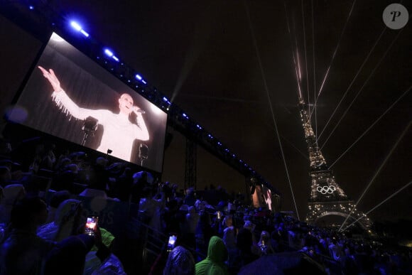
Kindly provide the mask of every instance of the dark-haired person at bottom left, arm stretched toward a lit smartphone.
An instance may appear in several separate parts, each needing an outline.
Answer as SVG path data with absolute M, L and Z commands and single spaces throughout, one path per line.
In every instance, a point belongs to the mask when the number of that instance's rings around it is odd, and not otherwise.
M 96 244 L 100 259 L 108 257 L 99 228 L 94 236 L 75 234 L 61 242 L 36 234 L 48 217 L 47 205 L 38 197 L 23 198 L 11 210 L 10 232 L 0 246 L 1 274 L 83 274 L 85 255 Z M 69 219 L 63 219 L 64 222 Z

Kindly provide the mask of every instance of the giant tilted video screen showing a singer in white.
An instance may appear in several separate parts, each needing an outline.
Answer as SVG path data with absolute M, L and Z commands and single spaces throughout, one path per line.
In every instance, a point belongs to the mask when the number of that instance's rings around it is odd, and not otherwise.
M 167 114 L 56 33 L 9 119 L 162 170 Z

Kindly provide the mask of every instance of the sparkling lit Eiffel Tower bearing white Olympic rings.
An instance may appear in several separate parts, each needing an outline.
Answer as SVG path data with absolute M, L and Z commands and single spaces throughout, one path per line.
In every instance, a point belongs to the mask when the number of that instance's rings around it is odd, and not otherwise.
M 327 215 L 338 215 L 346 219 L 350 213 L 346 225 L 350 225 L 357 220 L 364 230 L 368 230 L 372 225 L 371 220 L 354 207 L 353 200 L 347 198 L 345 192 L 337 184 L 333 171 L 327 166 L 322 152 L 320 152 L 303 99 L 300 99 L 299 107 L 303 130 L 305 131 L 305 140 L 308 144 L 310 178 L 312 180 L 306 222 L 315 224 L 317 220 Z

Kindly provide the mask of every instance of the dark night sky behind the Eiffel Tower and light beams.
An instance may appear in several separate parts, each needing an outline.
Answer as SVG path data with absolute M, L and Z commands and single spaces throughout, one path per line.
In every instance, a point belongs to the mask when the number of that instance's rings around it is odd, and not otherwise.
M 410 20 L 399 30 L 386 28 L 382 14 L 392 2 L 70 0 L 50 4 L 67 18 L 77 19 L 90 36 L 112 48 L 149 85 L 277 188 L 283 210 L 296 210 L 293 190 L 303 219 L 310 177 L 299 87 L 305 102 L 312 105 L 322 87 L 313 129 L 349 198 L 356 202 L 369 185 L 359 210 L 368 212 L 412 180 L 412 26 Z M 405 2 L 411 13 L 411 2 Z M 6 28 L 4 19 L 1 22 L 1 36 L 12 45 L 1 53 L 1 82 L 3 90 L 11 93 L 27 70 L 23 61 L 13 58 L 31 60 L 39 45 L 27 34 Z M 6 81 L 4 72 L 11 63 L 13 76 Z M 183 188 L 185 138 L 168 131 L 173 139 L 165 152 L 162 179 Z M 242 175 L 198 147 L 197 188 L 210 184 L 229 192 L 245 190 Z M 409 185 L 369 217 L 411 218 L 411 202 Z

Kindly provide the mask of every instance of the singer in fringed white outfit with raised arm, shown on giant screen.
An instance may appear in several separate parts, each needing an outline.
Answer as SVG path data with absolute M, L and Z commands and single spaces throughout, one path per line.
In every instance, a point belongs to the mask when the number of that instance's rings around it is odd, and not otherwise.
M 119 114 L 114 114 L 107 109 L 81 108 L 60 87 L 60 81 L 52 69 L 45 70 L 41 66 L 38 66 L 38 68 L 52 85 L 53 101 L 58 107 L 63 109 L 63 112 L 70 114 L 76 119 L 83 120 L 87 119 L 87 117 L 93 117 L 97 119 L 97 124 L 101 124 L 104 127 L 102 141 L 97 151 L 107 153 L 110 150 L 112 151 L 112 156 L 125 161 L 131 161 L 134 140 L 148 141 L 148 129 L 143 120 L 141 109 L 134 105 L 131 95 L 124 93 L 120 96 Z M 131 112 L 136 114 L 136 124 L 129 120 Z

